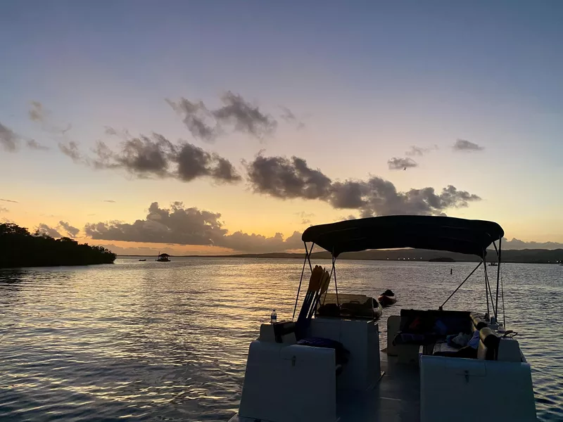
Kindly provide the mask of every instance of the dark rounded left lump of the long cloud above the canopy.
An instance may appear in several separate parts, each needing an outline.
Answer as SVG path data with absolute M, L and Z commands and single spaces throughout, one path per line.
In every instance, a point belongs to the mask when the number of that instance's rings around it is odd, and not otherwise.
M 258 155 L 247 165 L 247 173 L 255 192 L 276 198 L 317 199 L 330 193 L 331 179 L 308 167 L 302 158 Z

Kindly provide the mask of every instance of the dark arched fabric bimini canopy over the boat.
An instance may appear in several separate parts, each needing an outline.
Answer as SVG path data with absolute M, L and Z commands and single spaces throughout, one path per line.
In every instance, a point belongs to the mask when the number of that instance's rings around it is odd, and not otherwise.
M 301 236 L 337 257 L 366 249 L 449 250 L 483 257 L 505 232 L 497 223 L 429 215 L 387 215 L 311 226 Z M 485 252 L 486 254 L 486 252 Z

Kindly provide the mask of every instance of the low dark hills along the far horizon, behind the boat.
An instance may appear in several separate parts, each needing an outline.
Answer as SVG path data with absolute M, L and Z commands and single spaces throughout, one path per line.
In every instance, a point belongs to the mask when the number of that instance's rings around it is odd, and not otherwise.
M 189 255 L 195 257 L 198 255 Z M 210 257 L 209 255 L 205 255 Z M 229 258 L 300 258 L 303 259 L 303 253 L 246 253 L 238 255 L 213 255 L 211 257 L 229 257 Z M 313 252 L 311 255 L 315 259 L 330 259 L 329 252 Z M 479 257 L 474 255 L 464 255 L 462 253 L 445 252 L 443 250 L 426 250 L 426 249 L 394 249 L 394 250 L 362 250 L 362 252 L 344 252 L 339 255 L 339 260 L 378 260 L 378 261 L 429 261 L 447 259 L 456 262 L 479 262 Z M 487 262 L 497 260 L 496 252 L 488 250 Z M 523 250 L 502 250 L 502 262 L 523 262 L 532 264 L 548 264 L 563 261 L 563 249 L 523 249 Z

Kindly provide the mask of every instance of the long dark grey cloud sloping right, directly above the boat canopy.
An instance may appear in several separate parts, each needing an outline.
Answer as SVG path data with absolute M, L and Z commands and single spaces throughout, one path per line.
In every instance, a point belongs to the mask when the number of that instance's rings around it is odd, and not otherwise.
M 381 177 L 332 182 L 320 170 L 311 169 L 305 160 L 296 157 L 258 155 L 246 167 L 248 182 L 255 192 L 282 199 L 319 199 L 336 209 L 358 210 L 362 217 L 442 215 L 448 208 L 467 207 L 481 200 L 451 185 L 436 193 L 431 187 L 397 191 L 391 181 Z

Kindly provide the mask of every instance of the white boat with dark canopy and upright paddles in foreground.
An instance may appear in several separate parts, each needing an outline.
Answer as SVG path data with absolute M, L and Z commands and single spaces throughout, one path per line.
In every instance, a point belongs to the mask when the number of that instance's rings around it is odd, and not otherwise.
M 301 280 L 307 268 L 309 285 L 299 285 L 294 320 L 260 326 L 231 422 L 536 421 L 530 365 L 514 333 L 498 324 L 503 235 L 494 222 L 430 216 L 371 217 L 305 230 Z M 315 245 L 331 252 L 330 272 L 312 267 Z M 495 290 L 485 263 L 491 245 L 498 257 Z M 335 263 L 342 252 L 388 248 L 476 255 L 480 262 L 463 283 L 484 269 L 487 313 L 443 309 L 461 283 L 438 309 L 389 316 L 387 347 L 380 351 L 373 302 L 339 293 Z M 327 301 L 333 279 L 334 300 Z

